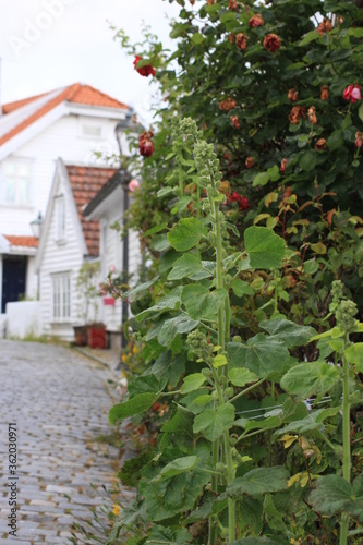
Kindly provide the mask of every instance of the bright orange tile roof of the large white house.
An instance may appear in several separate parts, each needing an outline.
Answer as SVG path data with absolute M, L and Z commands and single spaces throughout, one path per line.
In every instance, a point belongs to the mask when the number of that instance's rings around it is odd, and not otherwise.
M 22 106 L 25 106 L 26 104 L 29 104 L 33 100 L 36 100 L 37 98 L 40 98 L 41 96 L 45 96 L 47 94 L 50 93 L 45 93 L 44 95 L 37 95 L 34 97 L 25 98 L 23 100 L 17 100 L 15 102 L 3 105 L 2 110 L 4 113 L 10 113 L 11 111 L 14 111 L 15 109 L 21 108 Z M 11 140 L 13 136 L 16 136 L 16 134 L 19 134 L 21 131 L 23 131 L 32 123 L 40 119 L 50 110 L 56 108 L 56 106 L 59 106 L 61 102 L 64 101 L 71 104 L 82 104 L 82 105 L 97 106 L 104 108 L 120 108 L 120 109 L 129 108 L 125 104 L 120 102 L 116 98 L 112 98 L 106 95 L 105 93 L 95 89 L 94 87 L 90 87 L 90 85 L 82 85 L 81 83 L 75 83 L 74 85 L 70 85 L 69 87 L 59 89 L 59 93 L 56 97 L 53 97 L 51 100 L 43 105 L 37 111 L 32 113 L 28 118 L 26 118 L 16 126 L 11 129 L 7 134 L 1 136 L 0 146 L 5 142 L 8 142 L 9 140 Z

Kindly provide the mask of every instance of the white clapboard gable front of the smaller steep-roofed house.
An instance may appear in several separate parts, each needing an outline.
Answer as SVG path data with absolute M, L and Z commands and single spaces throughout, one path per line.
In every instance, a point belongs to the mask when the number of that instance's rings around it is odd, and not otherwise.
M 40 264 L 40 303 L 43 311 L 44 332 L 55 335 L 64 339 L 73 339 L 73 324 L 80 322 L 76 294 L 76 278 L 83 263 L 82 249 L 76 239 L 76 230 L 73 225 L 73 215 L 71 207 L 71 195 L 64 191 L 63 180 L 58 181 L 58 191 L 62 193 L 65 199 L 65 243 L 57 243 L 57 214 L 55 203 L 50 206 L 50 223 L 46 233 L 45 247 Z M 53 275 L 69 272 L 71 277 L 71 317 L 64 323 L 59 323 L 52 316 L 52 278 Z

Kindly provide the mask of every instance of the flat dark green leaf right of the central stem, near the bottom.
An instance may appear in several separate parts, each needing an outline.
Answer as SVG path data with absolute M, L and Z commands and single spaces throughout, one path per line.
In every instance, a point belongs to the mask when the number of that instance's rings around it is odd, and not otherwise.
M 282 467 L 257 468 L 242 477 L 237 477 L 228 489 L 230 496 L 265 494 L 285 491 L 288 487 L 289 472 Z

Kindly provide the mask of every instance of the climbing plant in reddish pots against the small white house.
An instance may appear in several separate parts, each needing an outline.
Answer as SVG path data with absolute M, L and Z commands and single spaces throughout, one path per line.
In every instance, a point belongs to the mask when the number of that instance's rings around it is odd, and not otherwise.
M 85 262 L 78 272 L 76 289 L 82 324 L 74 326 L 76 346 L 106 348 L 106 327 L 97 320 L 99 270 L 99 262 Z

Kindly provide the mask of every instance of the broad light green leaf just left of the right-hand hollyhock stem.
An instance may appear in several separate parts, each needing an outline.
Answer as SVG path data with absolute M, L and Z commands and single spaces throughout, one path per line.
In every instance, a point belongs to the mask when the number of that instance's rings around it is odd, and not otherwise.
M 340 372 L 325 361 L 306 362 L 290 368 L 281 378 L 281 388 L 305 399 L 326 393 L 340 379 Z

